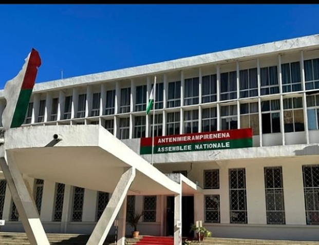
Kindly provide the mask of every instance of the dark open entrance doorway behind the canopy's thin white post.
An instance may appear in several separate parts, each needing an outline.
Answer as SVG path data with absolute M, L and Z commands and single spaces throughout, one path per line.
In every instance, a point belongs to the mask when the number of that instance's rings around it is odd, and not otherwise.
M 182 197 L 182 236 L 194 237 L 191 224 L 194 223 L 194 197 Z M 174 197 L 167 197 L 166 235 L 174 235 Z

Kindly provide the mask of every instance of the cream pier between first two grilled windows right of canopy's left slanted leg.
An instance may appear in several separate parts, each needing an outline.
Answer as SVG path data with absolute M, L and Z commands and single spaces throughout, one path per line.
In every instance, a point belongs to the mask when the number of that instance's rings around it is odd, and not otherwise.
M 42 221 L 52 221 L 52 214 L 54 209 L 54 191 L 55 182 L 45 180 L 43 185 L 40 214 L 40 218 Z

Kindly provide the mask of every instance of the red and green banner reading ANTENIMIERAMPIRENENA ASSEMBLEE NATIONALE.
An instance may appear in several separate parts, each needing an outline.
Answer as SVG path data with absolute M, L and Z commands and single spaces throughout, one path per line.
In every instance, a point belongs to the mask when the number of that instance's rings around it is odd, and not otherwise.
M 253 146 L 252 128 L 154 137 L 154 154 Z M 152 137 L 141 138 L 140 154 L 152 154 Z

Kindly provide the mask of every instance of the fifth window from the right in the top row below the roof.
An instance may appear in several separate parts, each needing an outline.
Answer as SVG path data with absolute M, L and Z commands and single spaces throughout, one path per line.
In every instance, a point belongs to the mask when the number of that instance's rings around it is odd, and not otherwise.
M 236 71 L 220 73 L 220 100 L 237 99 Z

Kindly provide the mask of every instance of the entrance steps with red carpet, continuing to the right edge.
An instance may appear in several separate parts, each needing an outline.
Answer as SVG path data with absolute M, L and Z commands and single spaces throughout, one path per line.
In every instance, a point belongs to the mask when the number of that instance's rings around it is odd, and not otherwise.
M 184 239 L 183 239 L 184 241 Z M 173 245 L 173 237 L 141 236 L 140 239 L 127 238 L 127 245 Z M 319 245 L 319 241 L 290 241 L 290 240 L 262 240 L 262 239 L 237 239 L 205 237 L 199 243 L 192 240 L 189 245 Z

